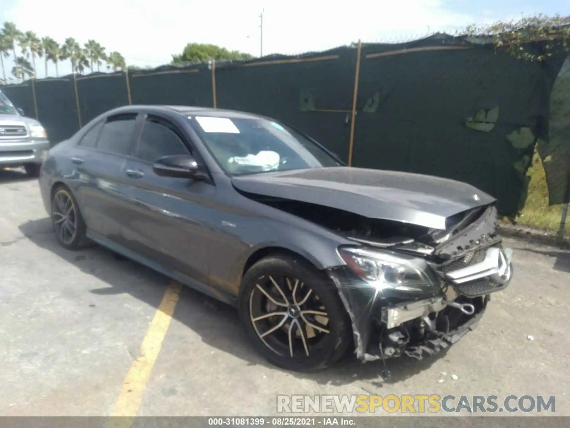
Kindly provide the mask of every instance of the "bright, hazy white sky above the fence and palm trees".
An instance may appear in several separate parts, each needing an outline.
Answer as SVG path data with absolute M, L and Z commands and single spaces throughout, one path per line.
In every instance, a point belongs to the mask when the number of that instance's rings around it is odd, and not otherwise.
M 570 0 L 0 0 L 0 25 L 74 37 L 119 51 L 127 64 L 169 63 L 186 43 L 213 43 L 259 56 L 300 54 L 363 42 L 402 42 L 427 33 L 454 33 L 471 23 L 510 21 L 522 15 L 570 14 Z M 19 54 L 17 52 L 17 54 Z M 13 62 L 4 60 L 7 74 Z M 45 76 L 43 60 L 36 64 Z M 48 64 L 48 75 L 55 67 Z M 59 64 L 59 74 L 71 64 Z

